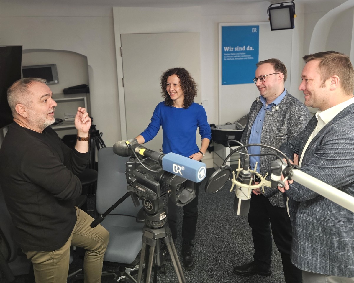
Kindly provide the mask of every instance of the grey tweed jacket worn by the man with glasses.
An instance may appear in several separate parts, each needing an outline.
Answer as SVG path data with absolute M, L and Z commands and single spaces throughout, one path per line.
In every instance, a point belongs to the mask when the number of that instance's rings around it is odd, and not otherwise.
M 252 103 L 245 131 L 240 139 L 242 144 L 248 143 L 253 122 L 262 106 L 261 99 L 257 97 Z M 306 106 L 287 91 L 285 97 L 276 106 L 273 107 L 272 111 L 265 112 L 261 143 L 278 149 L 279 146 L 296 137 L 307 125 L 311 116 Z M 275 153 L 272 149 L 261 147 L 261 154 L 270 152 Z M 241 154 L 240 158 L 243 163 L 244 155 Z M 273 160 L 275 160 L 273 155 L 259 157 L 260 164 L 257 166 L 257 172 L 262 175 L 268 172 L 268 180 L 270 180 L 270 164 Z M 273 206 L 284 207 L 282 194 L 278 189 L 264 187 L 264 192 L 264 196 L 269 197 L 269 201 Z

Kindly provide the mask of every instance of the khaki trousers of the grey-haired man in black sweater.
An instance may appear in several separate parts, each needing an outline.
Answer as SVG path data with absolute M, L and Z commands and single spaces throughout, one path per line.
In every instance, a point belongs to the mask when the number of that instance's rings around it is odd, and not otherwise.
M 66 283 L 69 272 L 70 246 L 86 249 L 84 258 L 84 282 L 101 282 L 103 255 L 109 241 L 109 233 L 101 225 L 91 228 L 93 218 L 76 208 L 76 224 L 68 241 L 52 252 L 26 251 L 33 263 L 36 283 Z

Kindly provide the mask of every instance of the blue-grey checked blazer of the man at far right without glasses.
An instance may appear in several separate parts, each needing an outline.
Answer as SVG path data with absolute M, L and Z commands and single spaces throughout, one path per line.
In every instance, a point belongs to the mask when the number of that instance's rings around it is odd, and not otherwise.
M 304 145 L 317 125 L 306 128 L 280 150 L 303 155 L 301 171 L 354 196 L 354 104 L 339 112 Z M 302 270 L 354 277 L 354 213 L 294 182 L 286 191 L 293 229 L 291 261 Z

